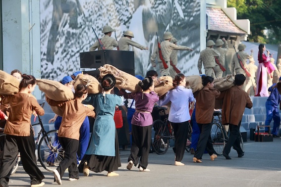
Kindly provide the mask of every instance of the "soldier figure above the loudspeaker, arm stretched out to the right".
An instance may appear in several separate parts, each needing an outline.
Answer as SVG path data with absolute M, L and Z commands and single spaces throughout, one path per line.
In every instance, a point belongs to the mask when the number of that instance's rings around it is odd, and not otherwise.
M 124 32 L 123 37 L 118 41 L 119 50 L 130 50 L 130 45 L 133 47 L 137 47 L 141 50 L 148 49 L 148 47 L 144 47 L 144 46 L 132 41 L 132 38 L 134 38 L 134 33 L 132 31 Z

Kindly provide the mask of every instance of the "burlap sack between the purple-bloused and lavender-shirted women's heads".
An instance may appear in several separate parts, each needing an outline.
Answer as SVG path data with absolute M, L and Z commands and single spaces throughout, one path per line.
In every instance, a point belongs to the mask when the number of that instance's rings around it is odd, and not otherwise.
M 154 80 L 154 91 L 158 93 L 159 96 L 166 94 L 169 90 L 173 89 L 172 78 L 169 76 L 159 77 Z

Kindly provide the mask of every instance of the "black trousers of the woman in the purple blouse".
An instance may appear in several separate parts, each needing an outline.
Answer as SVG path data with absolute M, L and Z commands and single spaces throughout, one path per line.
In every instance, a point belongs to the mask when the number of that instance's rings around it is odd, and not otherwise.
M 132 125 L 132 147 L 128 162 L 132 160 L 135 166 L 139 162 L 139 167 L 143 169 L 148 165 L 151 131 L 152 125 L 146 127 Z

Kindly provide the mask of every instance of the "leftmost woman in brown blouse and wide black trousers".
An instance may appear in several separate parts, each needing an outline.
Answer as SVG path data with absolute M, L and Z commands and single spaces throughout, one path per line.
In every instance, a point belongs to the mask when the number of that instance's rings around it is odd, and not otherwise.
M 18 152 L 20 152 L 22 165 L 30 176 L 31 187 L 41 187 L 44 175 L 36 165 L 34 132 L 31 127 L 31 115 L 35 110 L 37 115 L 44 115 L 44 109 L 38 104 L 36 98 L 30 93 L 36 86 L 32 75 L 22 75 L 19 93 L 2 98 L 2 104 L 10 104 L 10 114 L 6 122 L 4 133 L 3 165 L 0 168 L 0 186 L 7 187 L 11 170 L 13 169 Z

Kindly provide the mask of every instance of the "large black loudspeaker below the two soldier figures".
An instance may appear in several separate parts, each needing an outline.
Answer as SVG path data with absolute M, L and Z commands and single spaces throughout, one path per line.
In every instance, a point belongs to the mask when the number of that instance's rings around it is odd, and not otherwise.
M 80 52 L 81 68 L 99 68 L 105 64 L 111 64 L 125 72 L 134 72 L 134 52 L 124 50 L 95 50 Z M 135 73 L 132 75 L 135 75 Z

